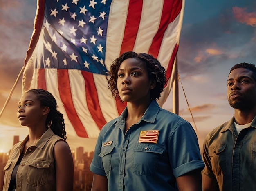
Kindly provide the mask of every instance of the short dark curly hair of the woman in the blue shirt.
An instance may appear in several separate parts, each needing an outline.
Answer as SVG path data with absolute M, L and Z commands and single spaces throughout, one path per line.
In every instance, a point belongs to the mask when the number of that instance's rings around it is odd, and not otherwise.
M 156 84 L 155 88 L 151 90 L 150 98 L 151 100 L 158 100 L 162 91 L 164 90 L 164 85 L 166 84 L 166 72 L 164 67 L 162 67 L 160 62 L 152 55 L 147 53 L 135 53 L 133 51 L 128 51 L 121 54 L 119 58 L 116 58 L 110 66 L 110 79 L 108 80 L 108 87 L 112 92 L 112 96 L 121 100 L 117 89 L 117 72 L 121 63 L 128 58 L 135 58 L 139 62 L 145 64 L 148 71 L 148 78 Z

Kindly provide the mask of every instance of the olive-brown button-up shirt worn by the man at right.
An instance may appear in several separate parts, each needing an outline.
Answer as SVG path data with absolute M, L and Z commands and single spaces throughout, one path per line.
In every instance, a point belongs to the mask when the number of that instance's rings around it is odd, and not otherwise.
M 205 175 L 217 180 L 220 191 L 256 190 L 256 117 L 238 134 L 234 117 L 209 132 L 203 144 Z

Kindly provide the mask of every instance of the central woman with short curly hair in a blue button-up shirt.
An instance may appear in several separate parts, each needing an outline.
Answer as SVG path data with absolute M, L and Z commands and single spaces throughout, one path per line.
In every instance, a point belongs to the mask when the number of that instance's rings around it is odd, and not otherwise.
M 189 122 L 159 107 L 165 69 L 146 53 L 126 52 L 110 67 L 112 95 L 127 107 L 100 131 L 92 191 L 200 191 L 204 167 Z

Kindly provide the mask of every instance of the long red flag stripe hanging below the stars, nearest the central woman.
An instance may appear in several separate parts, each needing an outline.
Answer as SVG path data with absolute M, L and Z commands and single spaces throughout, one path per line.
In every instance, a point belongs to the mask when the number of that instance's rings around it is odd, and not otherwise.
M 94 83 L 93 74 L 90 72 L 82 71 L 85 80 L 85 92 L 87 107 L 92 115 L 93 120 L 96 122 L 99 129 L 106 124 L 106 120 L 101 112 L 99 105 L 98 93 Z

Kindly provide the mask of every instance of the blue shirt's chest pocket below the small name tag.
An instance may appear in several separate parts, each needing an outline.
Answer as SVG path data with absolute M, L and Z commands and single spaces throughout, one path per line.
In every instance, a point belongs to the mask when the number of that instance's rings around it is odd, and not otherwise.
M 111 171 L 111 155 L 114 148 L 115 145 L 103 146 L 101 147 L 101 153 L 99 153 L 99 156 L 102 158 L 102 163 L 106 174 Z

